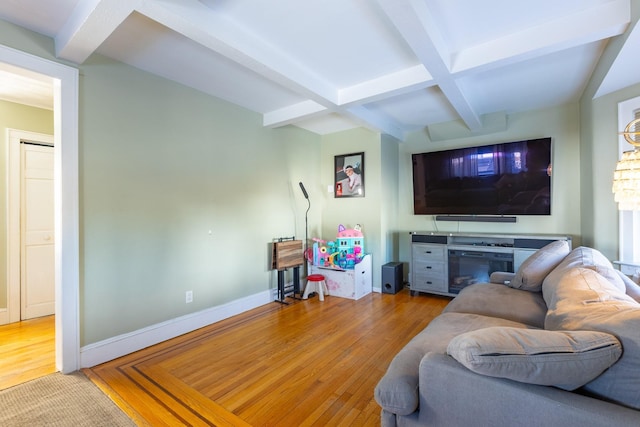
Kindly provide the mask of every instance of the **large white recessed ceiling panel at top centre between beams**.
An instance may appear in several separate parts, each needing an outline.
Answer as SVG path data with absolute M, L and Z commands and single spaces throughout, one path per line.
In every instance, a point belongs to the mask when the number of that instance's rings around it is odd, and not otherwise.
M 336 87 L 418 64 L 375 2 L 262 1 L 257 4 L 263 7 L 256 7 L 256 2 L 240 1 L 228 2 L 228 8 L 217 1 L 203 3 L 218 3 L 214 9 L 240 28 L 297 58 Z

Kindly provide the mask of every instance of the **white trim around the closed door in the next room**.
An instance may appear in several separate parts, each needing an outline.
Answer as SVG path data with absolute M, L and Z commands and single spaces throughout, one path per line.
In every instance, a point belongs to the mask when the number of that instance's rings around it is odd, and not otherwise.
M 7 129 L 7 317 L 8 323 L 19 322 L 22 316 L 20 294 L 20 206 L 22 205 L 20 144 L 22 141 L 44 142 L 52 144 L 55 150 L 53 135 L 29 132 L 18 129 Z M 55 178 L 54 178 L 55 185 Z

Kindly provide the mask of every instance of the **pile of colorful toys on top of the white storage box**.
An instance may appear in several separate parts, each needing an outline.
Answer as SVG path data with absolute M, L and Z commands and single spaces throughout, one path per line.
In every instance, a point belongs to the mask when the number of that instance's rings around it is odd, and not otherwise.
M 313 238 L 313 247 L 307 253 L 307 259 L 320 267 L 353 269 L 364 257 L 364 236 L 360 225 L 347 229 L 338 226 L 336 241 Z

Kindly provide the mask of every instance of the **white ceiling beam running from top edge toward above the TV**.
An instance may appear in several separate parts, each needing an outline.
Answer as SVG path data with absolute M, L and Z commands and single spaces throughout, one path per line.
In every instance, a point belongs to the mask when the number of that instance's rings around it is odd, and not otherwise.
M 383 11 L 400 32 L 418 60 L 433 75 L 435 83 L 471 130 L 482 128 L 482 121 L 451 75 L 450 53 L 423 0 L 378 0 Z

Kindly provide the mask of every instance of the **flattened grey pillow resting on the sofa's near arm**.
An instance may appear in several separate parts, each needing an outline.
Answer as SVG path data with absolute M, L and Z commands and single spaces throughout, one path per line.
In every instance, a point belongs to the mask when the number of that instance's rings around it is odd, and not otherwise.
M 458 335 L 447 352 L 482 375 L 575 390 L 613 365 L 622 349 L 602 332 L 493 327 Z

